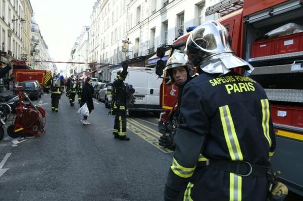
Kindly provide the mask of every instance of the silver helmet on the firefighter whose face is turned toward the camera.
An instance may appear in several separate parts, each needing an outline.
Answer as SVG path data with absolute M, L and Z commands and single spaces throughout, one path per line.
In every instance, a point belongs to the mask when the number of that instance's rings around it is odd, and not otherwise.
M 170 75 L 171 79 L 174 81 L 173 78 L 173 69 L 177 67 L 184 67 L 187 71 L 189 77 L 193 77 L 195 75 L 194 68 L 191 65 L 188 65 L 187 56 L 184 53 L 175 52 L 171 57 L 167 60 L 166 67 L 164 71 Z

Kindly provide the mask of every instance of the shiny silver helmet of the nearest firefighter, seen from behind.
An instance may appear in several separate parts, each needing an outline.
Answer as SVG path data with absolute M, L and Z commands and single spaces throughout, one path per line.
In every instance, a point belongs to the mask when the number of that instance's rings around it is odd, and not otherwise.
M 186 54 L 194 66 L 206 73 L 230 72 L 242 67 L 254 69 L 248 62 L 234 55 L 227 29 L 216 21 L 205 22 L 195 28 L 186 42 Z

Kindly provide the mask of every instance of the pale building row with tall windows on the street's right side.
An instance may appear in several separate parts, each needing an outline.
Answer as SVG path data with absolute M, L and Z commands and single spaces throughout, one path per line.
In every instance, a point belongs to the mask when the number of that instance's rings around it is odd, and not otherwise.
M 103 80 L 109 77 L 111 70 L 120 68 L 122 61 L 133 66 L 153 67 L 155 63 L 148 60 L 156 62 L 153 55 L 157 47 L 172 44 L 178 30 L 185 33 L 186 27 L 205 22 L 206 8 L 218 2 L 98 0 L 90 16 L 88 60 L 99 64 L 98 72 Z

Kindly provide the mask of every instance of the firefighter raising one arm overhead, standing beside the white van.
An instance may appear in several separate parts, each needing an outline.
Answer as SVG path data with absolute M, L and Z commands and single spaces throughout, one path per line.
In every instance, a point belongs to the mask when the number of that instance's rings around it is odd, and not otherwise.
M 126 87 L 124 80 L 127 76 L 127 63 L 122 63 L 123 71 L 118 72 L 117 79 L 114 81 L 112 108 L 116 114 L 113 135 L 115 139 L 129 141 L 126 137 Z

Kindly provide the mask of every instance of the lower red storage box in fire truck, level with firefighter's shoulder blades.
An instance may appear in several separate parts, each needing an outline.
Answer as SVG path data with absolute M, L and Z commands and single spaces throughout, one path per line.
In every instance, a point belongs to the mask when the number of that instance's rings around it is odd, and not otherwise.
M 303 108 L 290 106 L 271 106 L 271 116 L 274 123 L 303 128 Z

